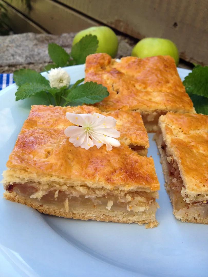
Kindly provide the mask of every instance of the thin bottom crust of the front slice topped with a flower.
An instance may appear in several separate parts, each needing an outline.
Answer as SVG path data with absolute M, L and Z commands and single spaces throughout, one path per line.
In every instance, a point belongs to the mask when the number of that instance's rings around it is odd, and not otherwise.
M 26 199 L 22 196 L 19 196 L 17 193 L 5 192 L 4 198 L 13 202 L 21 203 L 36 209 L 37 211 L 49 214 L 53 216 L 60 216 L 65 218 L 73 218 L 73 219 L 81 219 L 81 220 L 97 220 L 97 221 L 106 221 L 106 222 L 119 222 L 119 223 L 138 223 L 142 225 L 144 223 L 148 223 L 146 228 L 153 228 L 158 225 L 157 220 L 155 219 L 155 213 L 151 213 L 151 215 L 147 215 L 146 213 L 140 213 L 136 215 L 128 215 L 128 212 L 113 212 L 113 211 L 105 211 L 105 214 L 100 211 L 92 210 L 92 208 L 82 209 L 82 208 L 73 208 L 69 211 L 66 211 L 64 208 L 59 208 L 55 206 L 48 206 L 37 204 L 34 202 L 34 199 Z M 103 211 L 104 212 L 104 211 Z

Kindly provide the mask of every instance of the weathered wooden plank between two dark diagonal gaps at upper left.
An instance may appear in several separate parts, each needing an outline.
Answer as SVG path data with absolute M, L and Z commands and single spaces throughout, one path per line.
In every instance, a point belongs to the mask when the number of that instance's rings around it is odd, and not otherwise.
M 5 2 L 21 11 L 34 22 L 38 22 L 40 26 L 51 34 L 59 35 L 78 32 L 79 30 L 98 25 L 93 20 L 51 0 L 31 1 L 31 11 L 28 11 L 22 1 L 5 0 Z

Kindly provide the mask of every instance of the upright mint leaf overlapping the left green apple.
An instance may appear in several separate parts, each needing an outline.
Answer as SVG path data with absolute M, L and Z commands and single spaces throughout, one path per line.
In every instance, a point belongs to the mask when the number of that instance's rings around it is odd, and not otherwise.
M 79 42 L 72 46 L 71 56 L 77 65 L 85 63 L 86 57 L 94 54 L 98 48 L 96 35 L 86 35 Z

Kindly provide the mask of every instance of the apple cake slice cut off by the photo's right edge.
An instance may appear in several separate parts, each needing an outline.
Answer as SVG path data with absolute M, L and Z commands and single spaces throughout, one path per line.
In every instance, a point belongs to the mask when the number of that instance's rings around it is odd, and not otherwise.
M 159 118 L 155 140 L 173 214 L 208 224 L 208 116 L 168 112 Z

